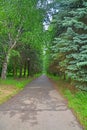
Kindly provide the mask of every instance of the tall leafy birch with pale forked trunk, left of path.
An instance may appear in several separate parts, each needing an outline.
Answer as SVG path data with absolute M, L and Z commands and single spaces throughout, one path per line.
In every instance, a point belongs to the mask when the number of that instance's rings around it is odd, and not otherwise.
M 18 43 L 30 44 L 35 48 L 41 48 L 39 42 L 42 33 L 42 11 L 37 8 L 37 0 L 1 1 L 0 7 L 0 36 L 1 45 L 4 44 L 4 58 L 2 66 L 2 79 L 6 78 L 7 64 L 11 50 Z M 40 43 L 40 44 L 39 44 Z

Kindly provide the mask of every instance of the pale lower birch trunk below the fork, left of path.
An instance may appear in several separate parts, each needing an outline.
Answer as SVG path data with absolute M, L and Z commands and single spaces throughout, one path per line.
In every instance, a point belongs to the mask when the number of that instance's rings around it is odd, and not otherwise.
M 7 54 L 2 66 L 2 73 L 1 73 L 2 79 L 6 79 L 8 59 L 9 59 L 9 55 Z

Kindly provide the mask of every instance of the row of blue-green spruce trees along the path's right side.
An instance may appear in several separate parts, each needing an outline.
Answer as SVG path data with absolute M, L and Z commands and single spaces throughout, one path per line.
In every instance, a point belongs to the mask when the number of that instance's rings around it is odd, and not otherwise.
M 62 0 L 54 15 L 48 71 L 87 90 L 87 2 Z M 54 32 L 54 34 L 53 34 Z

